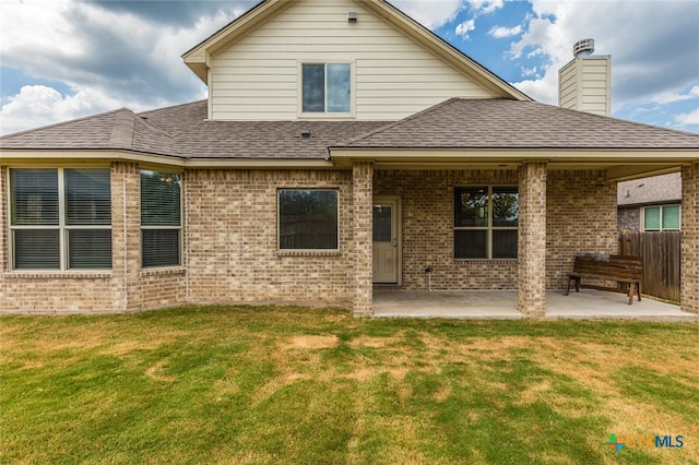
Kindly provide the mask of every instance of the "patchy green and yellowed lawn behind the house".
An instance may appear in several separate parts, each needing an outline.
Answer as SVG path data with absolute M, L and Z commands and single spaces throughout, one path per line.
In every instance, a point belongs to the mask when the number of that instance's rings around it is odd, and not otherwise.
M 188 307 L 4 317 L 0 356 L 1 463 L 699 463 L 694 324 Z

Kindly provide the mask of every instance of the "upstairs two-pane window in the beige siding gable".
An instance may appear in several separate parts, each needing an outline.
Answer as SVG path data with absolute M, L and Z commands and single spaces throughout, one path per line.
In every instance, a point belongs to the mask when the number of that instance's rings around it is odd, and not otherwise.
M 350 63 L 303 64 L 303 112 L 352 111 Z

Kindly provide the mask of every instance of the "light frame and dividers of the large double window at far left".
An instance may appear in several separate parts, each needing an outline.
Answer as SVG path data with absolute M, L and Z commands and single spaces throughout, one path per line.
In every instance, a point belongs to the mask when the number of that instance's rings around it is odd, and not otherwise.
M 31 272 L 31 273 L 56 273 L 56 272 L 106 272 L 111 271 L 112 266 L 109 269 L 69 269 L 68 267 L 68 234 L 70 230 L 84 229 L 84 230 L 109 230 L 111 231 L 111 225 L 67 225 L 66 224 L 66 169 L 75 169 L 71 166 L 67 167 L 38 167 L 39 169 L 56 169 L 58 176 L 58 225 L 12 225 L 12 186 L 11 186 L 11 177 L 10 170 L 12 169 L 32 169 L 34 167 L 21 167 L 21 168 L 10 168 L 8 169 L 7 176 L 7 186 L 8 186 L 8 226 L 10 229 L 9 234 L 9 258 L 10 258 L 10 269 L 16 272 Z M 108 169 L 106 167 L 88 167 L 86 169 Z M 109 187 L 111 191 L 111 186 Z M 114 205 L 112 205 L 114 207 Z M 31 270 L 22 270 L 16 267 L 15 257 L 14 257 L 14 231 L 15 230 L 58 230 L 58 247 L 59 247 L 59 267 L 58 269 L 31 269 Z M 114 238 L 112 238 L 112 247 L 114 247 Z M 114 259 L 114 250 L 112 250 L 112 259 Z

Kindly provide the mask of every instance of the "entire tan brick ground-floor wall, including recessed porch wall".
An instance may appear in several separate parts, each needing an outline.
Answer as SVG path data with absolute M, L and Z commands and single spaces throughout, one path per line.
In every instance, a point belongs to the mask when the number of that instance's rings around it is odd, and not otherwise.
M 518 287 L 516 260 L 453 259 L 454 186 L 517 186 L 514 170 L 374 170 L 370 164 L 345 170 L 187 170 L 182 266 L 141 270 L 139 169 L 133 163 L 111 164 L 111 271 L 11 271 L 8 199 L 0 196 L 0 311 L 119 312 L 186 302 L 288 302 L 352 307 L 355 314 L 370 314 L 368 192 L 401 196 L 405 289 L 427 288 L 427 266 L 435 270 L 437 289 Z M 7 168 L 0 175 L 4 194 Z M 615 250 L 615 187 L 604 178 L 602 171 L 548 172 L 546 287 L 561 287 L 576 251 Z M 279 188 L 339 190 L 339 251 L 277 250 Z

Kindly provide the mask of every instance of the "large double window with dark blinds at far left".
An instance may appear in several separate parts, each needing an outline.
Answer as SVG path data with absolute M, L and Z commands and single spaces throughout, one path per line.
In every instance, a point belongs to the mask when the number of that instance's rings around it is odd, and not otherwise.
M 109 169 L 10 170 L 14 270 L 111 269 Z

